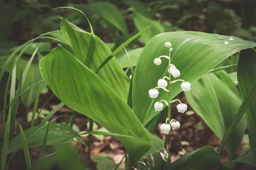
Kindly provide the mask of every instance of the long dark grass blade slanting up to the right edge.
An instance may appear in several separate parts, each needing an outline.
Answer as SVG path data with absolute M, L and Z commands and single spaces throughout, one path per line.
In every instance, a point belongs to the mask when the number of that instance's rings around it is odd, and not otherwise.
M 252 89 L 247 94 L 246 98 L 244 99 L 243 103 L 239 107 L 236 117 L 234 118 L 234 121 L 230 126 L 228 127 L 227 132 L 225 133 L 223 139 L 221 140 L 220 146 L 217 150 L 217 152 L 221 153 L 224 146 L 226 145 L 228 138 L 230 137 L 231 133 L 235 129 L 237 123 L 240 121 L 241 117 L 244 115 L 244 112 L 246 111 L 247 107 L 249 106 L 250 102 L 252 101 L 253 97 L 256 95 L 256 81 L 254 82 L 254 85 L 252 86 Z

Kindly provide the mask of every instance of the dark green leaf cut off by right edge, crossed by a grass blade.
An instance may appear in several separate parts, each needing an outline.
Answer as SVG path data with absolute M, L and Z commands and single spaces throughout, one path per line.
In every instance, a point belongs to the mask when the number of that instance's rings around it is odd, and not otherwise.
M 241 52 L 238 67 L 237 79 L 242 98 L 245 99 L 248 92 L 250 92 L 254 82 L 256 81 L 256 52 L 252 49 L 247 49 Z M 247 121 L 247 128 L 249 131 L 250 146 L 254 158 L 256 158 L 256 98 L 253 97 L 248 109 L 246 110 L 245 117 Z

